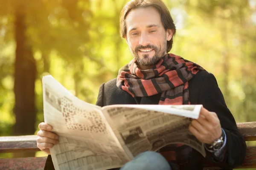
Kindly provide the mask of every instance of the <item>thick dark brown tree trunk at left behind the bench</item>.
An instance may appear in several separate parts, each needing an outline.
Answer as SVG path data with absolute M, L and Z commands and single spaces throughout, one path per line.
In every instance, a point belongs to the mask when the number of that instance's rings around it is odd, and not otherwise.
M 15 14 L 15 116 L 14 135 L 32 135 L 35 133 L 35 79 L 36 63 L 32 47 L 26 36 L 26 16 L 21 8 Z

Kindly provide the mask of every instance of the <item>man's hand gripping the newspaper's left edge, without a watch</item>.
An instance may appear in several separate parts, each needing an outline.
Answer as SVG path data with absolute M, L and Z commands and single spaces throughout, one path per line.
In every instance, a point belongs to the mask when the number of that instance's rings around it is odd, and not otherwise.
M 46 124 L 45 122 L 41 122 L 38 127 L 40 130 L 37 133 L 37 147 L 44 151 L 44 153 L 50 155 L 51 153 L 49 148 L 52 148 L 54 144 L 58 144 L 58 135 L 51 132 L 52 126 Z

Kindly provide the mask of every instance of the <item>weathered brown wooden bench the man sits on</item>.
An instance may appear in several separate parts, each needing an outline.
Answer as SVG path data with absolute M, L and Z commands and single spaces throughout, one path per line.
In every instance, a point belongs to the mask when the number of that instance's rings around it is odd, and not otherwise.
M 239 131 L 246 141 L 256 141 L 256 122 L 245 122 L 237 124 Z M 31 136 L 5 136 L 0 137 L 0 153 L 14 153 L 23 151 L 39 151 L 36 144 L 36 135 Z M 28 158 L 0 158 L 0 169 L 2 170 L 43 170 L 46 157 Z M 256 168 L 256 146 L 248 146 L 244 163 L 237 168 Z M 206 170 L 216 170 L 219 167 L 205 165 Z

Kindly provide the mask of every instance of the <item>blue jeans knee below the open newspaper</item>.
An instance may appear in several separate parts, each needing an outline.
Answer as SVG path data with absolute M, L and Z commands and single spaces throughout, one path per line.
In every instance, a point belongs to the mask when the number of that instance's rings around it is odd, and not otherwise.
M 159 153 L 146 151 L 127 162 L 120 170 L 171 170 L 171 167 Z

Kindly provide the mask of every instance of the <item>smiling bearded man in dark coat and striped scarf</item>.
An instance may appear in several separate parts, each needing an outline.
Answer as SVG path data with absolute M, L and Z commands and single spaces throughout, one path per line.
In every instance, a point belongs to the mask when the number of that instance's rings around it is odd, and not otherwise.
M 119 75 L 99 90 L 96 105 L 113 104 L 202 104 L 200 116 L 192 120 L 190 132 L 207 150 L 204 158 L 188 146 L 172 145 L 145 152 L 122 170 L 202 170 L 203 162 L 230 169 L 243 162 L 246 144 L 227 108 L 215 77 L 201 66 L 175 54 L 167 54 L 173 43 L 175 25 L 161 0 L 132 0 L 120 14 L 120 33 L 134 59 Z M 38 147 L 50 154 L 58 136 L 42 122 Z M 49 129 L 48 129 L 49 128 Z M 175 152 L 169 152 L 172 150 Z M 175 159 L 169 159 L 175 153 Z M 48 156 L 46 167 L 54 169 Z

